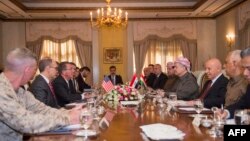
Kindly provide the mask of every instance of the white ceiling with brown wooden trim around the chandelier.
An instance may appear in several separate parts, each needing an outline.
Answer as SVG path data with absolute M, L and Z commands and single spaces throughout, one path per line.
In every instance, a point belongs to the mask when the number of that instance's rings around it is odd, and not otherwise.
M 112 0 L 129 19 L 214 18 L 246 0 Z M 0 0 L 2 20 L 89 20 L 105 0 Z M 95 12 L 94 12 L 95 13 Z

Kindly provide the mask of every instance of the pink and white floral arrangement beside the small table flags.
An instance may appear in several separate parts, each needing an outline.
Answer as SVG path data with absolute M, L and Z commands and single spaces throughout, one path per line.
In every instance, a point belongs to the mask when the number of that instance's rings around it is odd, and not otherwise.
M 128 85 L 117 85 L 105 95 L 106 101 L 133 101 L 138 100 L 139 91 Z

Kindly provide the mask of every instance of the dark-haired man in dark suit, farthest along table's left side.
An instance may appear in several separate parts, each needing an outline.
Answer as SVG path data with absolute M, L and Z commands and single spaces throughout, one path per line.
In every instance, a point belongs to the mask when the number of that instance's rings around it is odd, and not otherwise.
M 80 75 L 76 78 L 79 86 L 79 91 L 84 92 L 84 89 L 90 89 L 91 86 L 85 82 L 85 79 L 90 74 L 89 67 L 85 66 L 80 69 Z

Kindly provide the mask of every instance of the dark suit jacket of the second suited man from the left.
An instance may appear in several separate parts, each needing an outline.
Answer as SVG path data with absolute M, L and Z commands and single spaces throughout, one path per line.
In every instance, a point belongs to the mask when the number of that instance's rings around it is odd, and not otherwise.
M 70 88 L 64 78 L 59 75 L 53 83 L 55 94 L 57 96 L 58 104 L 65 106 L 68 103 L 79 101 L 82 96 L 78 93 L 71 93 Z

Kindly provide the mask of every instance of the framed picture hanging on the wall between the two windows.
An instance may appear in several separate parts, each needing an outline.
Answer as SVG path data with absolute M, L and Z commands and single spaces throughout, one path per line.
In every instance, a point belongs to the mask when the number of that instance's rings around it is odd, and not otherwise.
M 103 63 L 120 64 L 122 63 L 122 49 L 118 47 L 104 48 Z

